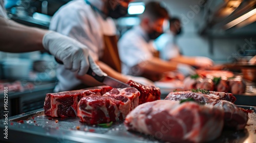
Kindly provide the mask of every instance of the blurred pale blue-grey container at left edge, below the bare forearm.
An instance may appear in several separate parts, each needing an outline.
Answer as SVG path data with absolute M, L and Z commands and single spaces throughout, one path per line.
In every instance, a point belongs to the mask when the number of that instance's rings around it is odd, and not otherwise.
M 29 59 L 5 59 L 2 62 L 3 77 L 5 79 L 29 78 L 31 61 Z

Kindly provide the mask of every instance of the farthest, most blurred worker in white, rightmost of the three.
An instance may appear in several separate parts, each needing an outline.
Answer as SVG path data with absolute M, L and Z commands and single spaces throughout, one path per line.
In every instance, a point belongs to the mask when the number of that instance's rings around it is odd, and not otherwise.
M 154 46 L 160 51 L 160 57 L 166 61 L 175 61 L 195 67 L 212 66 L 214 62 L 207 57 L 186 57 L 180 52 L 175 38 L 182 32 L 181 22 L 178 18 L 169 19 L 169 29 L 154 41 Z

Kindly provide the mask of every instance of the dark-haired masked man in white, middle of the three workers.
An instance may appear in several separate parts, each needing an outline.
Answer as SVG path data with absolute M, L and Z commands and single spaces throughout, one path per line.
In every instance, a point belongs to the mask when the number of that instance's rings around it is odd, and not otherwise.
M 195 74 L 194 69 L 186 64 L 167 62 L 153 56 L 156 50 L 152 40 L 162 34 L 163 22 L 167 18 L 168 12 L 160 3 L 145 5 L 140 25 L 124 33 L 118 42 L 123 74 L 154 77 L 151 80 L 157 80 L 159 75 L 170 70 L 179 70 L 184 75 Z

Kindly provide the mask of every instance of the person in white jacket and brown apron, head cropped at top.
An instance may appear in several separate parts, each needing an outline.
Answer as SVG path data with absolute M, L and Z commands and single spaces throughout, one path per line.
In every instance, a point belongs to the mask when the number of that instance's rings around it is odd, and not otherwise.
M 76 0 L 62 6 L 52 17 L 50 29 L 63 35 L 72 37 L 79 42 L 88 45 L 90 55 L 109 76 L 122 82 L 130 79 L 143 83 L 152 84 L 151 81 L 140 77 L 127 77 L 118 73 L 119 57 L 117 49 L 116 26 L 112 18 L 119 18 L 127 13 L 127 7 L 131 0 Z M 109 53 L 104 53 L 105 49 Z M 114 53 L 114 54 L 113 54 Z M 103 59 L 103 55 L 105 59 Z M 114 58 L 114 59 L 113 59 Z M 112 60 L 109 66 L 108 60 Z M 120 68 L 120 67 L 119 67 Z M 84 88 L 101 85 L 88 75 L 76 76 L 72 71 L 59 65 L 57 68 L 59 80 L 55 91 Z M 90 82 L 88 82 L 88 78 Z

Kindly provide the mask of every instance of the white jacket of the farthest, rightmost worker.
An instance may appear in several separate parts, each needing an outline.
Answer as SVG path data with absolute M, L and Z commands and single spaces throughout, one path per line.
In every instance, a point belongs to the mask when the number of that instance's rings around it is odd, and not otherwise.
M 160 58 L 163 60 L 168 61 L 180 56 L 179 47 L 174 42 L 174 33 L 170 30 L 159 36 L 153 45 L 160 52 Z

